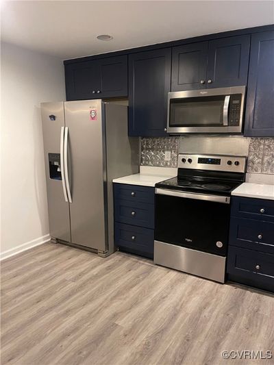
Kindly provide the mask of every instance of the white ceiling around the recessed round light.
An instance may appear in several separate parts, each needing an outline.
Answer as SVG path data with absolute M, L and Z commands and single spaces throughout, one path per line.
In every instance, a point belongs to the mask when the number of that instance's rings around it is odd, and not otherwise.
M 273 1 L 2 1 L 1 38 L 62 59 L 274 23 Z M 97 40 L 110 34 L 113 40 Z

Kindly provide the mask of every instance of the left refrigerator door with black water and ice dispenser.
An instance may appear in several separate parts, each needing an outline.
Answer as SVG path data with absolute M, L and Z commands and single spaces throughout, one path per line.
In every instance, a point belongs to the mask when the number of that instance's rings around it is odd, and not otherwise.
M 71 242 L 69 200 L 64 179 L 64 103 L 41 103 L 49 233 Z

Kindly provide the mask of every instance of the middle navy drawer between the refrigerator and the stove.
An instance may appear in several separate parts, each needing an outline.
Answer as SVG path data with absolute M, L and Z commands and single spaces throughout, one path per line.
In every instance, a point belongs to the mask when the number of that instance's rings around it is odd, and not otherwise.
M 127 200 L 115 201 L 115 221 L 154 229 L 154 205 L 132 204 Z

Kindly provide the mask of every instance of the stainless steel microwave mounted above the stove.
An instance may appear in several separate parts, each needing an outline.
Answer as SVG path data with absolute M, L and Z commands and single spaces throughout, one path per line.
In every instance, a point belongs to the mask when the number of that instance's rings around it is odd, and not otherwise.
M 241 133 L 245 86 L 169 92 L 168 133 Z

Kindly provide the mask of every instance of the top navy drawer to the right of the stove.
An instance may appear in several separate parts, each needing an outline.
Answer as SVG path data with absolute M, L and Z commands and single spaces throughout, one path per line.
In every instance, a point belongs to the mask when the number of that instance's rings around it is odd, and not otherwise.
M 274 201 L 232 197 L 231 215 L 274 223 Z

